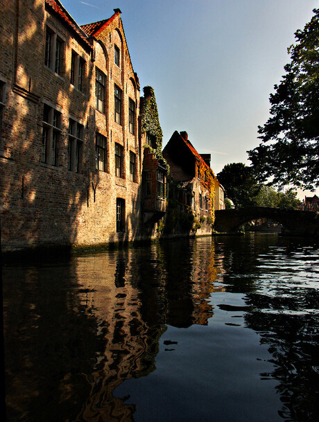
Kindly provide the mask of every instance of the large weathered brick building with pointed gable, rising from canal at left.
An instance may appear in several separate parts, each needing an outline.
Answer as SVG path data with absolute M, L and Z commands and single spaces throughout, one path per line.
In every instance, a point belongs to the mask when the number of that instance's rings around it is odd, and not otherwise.
M 142 238 L 152 134 L 121 11 L 80 27 L 58 0 L 0 3 L 2 249 Z

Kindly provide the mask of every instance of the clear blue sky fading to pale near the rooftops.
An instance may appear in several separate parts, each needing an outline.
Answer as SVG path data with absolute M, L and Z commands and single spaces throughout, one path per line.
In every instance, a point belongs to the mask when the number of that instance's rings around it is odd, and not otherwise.
M 259 144 L 257 126 L 268 119 L 287 47 L 319 7 L 318 0 L 61 1 L 80 25 L 121 9 L 141 89 L 155 89 L 163 146 L 186 130 L 198 152 L 212 154 L 214 173 L 249 165 L 246 151 Z

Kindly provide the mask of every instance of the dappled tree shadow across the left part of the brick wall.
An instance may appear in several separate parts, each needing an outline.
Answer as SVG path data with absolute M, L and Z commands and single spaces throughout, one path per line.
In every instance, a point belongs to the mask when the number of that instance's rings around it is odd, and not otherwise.
M 3 251 L 74 243 L 78 216 L 92 201 L 92 180 L 94 184 L 98 182 L 94 162 L 95 112 L 89 109 L 89 83 L 83 94 L 70 85 L 68 68 L 60 78 L 44 66 L 44 2 L 32 1 L 29 11 L 24 5 L 25 13 L 15 7 L 10 3 L 4 6 L 5 15 L 20 12 L 13 43 L 8 45 L 6 32 L 0 33 L 1 45 L 8 46 L 4 52 L 8 56 L 8 83 L 3 153 L 0 152 Z M 12 84 L 11 62 L 15 63 L 16 75 Z M 90 81 L 90 62 L 86 72 L 86 80 Z M 28 81 L 28 91 L 24 81 Z M 12 86 L 20 94 L 12 92 Z M 57 166 L 42 164 L 42 98 L 62 109 Z M 69 113 L 85 121 L 86 161 L 83 160 L 79 173 L 68 170 Z

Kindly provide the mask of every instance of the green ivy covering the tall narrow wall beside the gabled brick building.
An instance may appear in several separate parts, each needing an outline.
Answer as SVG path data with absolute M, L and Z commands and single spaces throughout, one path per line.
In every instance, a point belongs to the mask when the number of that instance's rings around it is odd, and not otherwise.
M 152 87 L 144 87 L 144 98 L 141 105 L 141 132 L 143 134 L 150 134 L 155 139 L 156 148 L 146 145 L 155 158 L 160 162 L 169 174 L 169 164 L 164 159 L 162 154 L 163 132 L 158 117 L 157 103 L 155 99 L 154 89 Z

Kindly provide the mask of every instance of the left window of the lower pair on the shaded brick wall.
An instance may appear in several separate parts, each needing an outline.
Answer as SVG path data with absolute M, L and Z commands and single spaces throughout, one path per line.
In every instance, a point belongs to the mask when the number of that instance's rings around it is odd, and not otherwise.
M 61 113 L 43 105 L 41 161 L 58 166 L 58 143 L 61 133 Z

